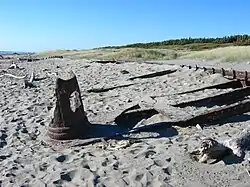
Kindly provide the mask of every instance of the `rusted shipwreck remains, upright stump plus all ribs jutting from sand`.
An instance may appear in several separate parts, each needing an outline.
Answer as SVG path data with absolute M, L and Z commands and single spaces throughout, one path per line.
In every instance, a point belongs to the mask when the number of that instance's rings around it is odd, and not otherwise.
M 184 65 L 181 67 L 185 67 Z M 192 67 L 188 68 L 196 70 L 203 69 L 204 71 L 215 74 L 222 74 L 228 79 L 228 82 L 212 85 L 209 87 L 198 88 L 196 90 L 191 90 L 188 92 L 182 92 L 177 94 L 193 93 L 197 91 L 202 91 L 206 89 L 227 89 L 233 88 L 231 91 L 214 95 L 211 97 L 182 102 L 172 107 L 176 107 L 179 110 L 186 106 L 198 106 L 200 103 L 215 103 L 216 105 L 222 106 L 216 109 L 208 110 L 197 116 L 191 116 L 185 119 L 166 122 L 166 123 L 156 123 L 152 125 L 137 127 L 137 128 L 127 128 L 123 133 L 117 133 L 108 137 L 102 137 L 97 139 L 92 139 L 86 141 L 85 144 L 92 144 L 95 142 L 100 142 L 103 139 L 108 140 L 112 138 L 121 137 L 124 134 L 142 132 L 142 131 L 156 131 L 159 129 L 166 129 L 171 126 L 187 127 L 193 125 L 203 125 L 216 122 L 218 120 L 227 119 L 231 116 L 240 115 L 250 111 L 250 87 L 248 77 L 250 75 L 247 71 L 235 71 L 235 70 L 225 70 L 207 67 Z M 140 79 L 140 78 L 151 78 L 162 76 L 166 74 L 174 73 L 176 70 L 165 70 L 161 72 L 155 72 L 151 74 L 146 74 L 142 76 L 132 77 L 130 80 Z M 129 86 L 129 85 L 125 85 Z M 118 86 L 119 87 L 119 86 Z M 120 87 L 123 87 L 121 85 Z M 89 92 L 105 92 L 108 90 L 115 89 L 117 87 L 104 88 L 100 90 L 89 90 Z M 48 135 L 54 140 L 72 140 L 78 138 L 84 138 L 89 133 L 94 130 L 94 125 L 92 125 L 84 111 L 84 106 L 81 100 L 81 93 L 77 78 L 73 72 L 70 72 L 70 77 L 68 79 L 57 78 L 56 81 L 56 107 L 54 110 L 54 117 L 52 122 L 48 127 Z M 139 104 L 134 105 L 126 110 L 124 110 L 120 115 L 115 118 L 115 123 L 117 125 L 123 126 L 126 123 L 133 121 L 134 123 L 139 122 L 142 119 L 149 118 L 155 114 L 161 113 L 164 115 L 164 110 L 159 110 L 157 108 L 141 108 Z M 133 119 L 133 120 L 131 120 Z M 128 127 L 128 126 L 127 126 Z M 132 126 L 131 126 L 132 127 Z

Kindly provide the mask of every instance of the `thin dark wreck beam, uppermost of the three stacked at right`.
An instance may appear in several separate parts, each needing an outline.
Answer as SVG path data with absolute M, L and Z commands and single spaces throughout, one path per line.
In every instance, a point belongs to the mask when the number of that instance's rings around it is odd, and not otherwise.
M 190 91 L 186 91 L 186 92 L 180 92 L 177 93 L 177 95 L 183 95 L 183 94 L 187 94 L 187 93 L 194 93 L 194 92 L 199 92 L 199 91 L 203 91 L 206 89 L 228 89 L 228 88 L 242 88 L 242 83 L 240 80 L 232 80 L 229 82 L 225 82 L 225 83 L 220 83 L 220 84 L 216 84 L 216 85 L 212 85 L 212 86 L 206 86 L 203 88 L 198 88 L 198 89 L 194 89 L 194 90 L 190 90 Z

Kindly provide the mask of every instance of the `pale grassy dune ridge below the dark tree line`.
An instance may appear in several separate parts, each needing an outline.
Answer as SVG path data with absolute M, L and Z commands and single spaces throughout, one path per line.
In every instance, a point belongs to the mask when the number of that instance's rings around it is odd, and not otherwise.
M 222 62 L 250 61 L 250 46 L 229 46 L 202 51 L 177 49 L 144 49 L 144 48 L 101 48 L 91 50 L 55 50 L 37 53 L 34 56 L 63 55 L 72 59 L 116 59 L 116 60 L 171 60 L 197 59 L 219 60 Z

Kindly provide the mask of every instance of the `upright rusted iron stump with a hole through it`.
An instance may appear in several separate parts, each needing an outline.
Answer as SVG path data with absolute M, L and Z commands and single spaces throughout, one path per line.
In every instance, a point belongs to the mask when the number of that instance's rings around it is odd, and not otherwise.
M 84 112 L 79 85 L 71 71 L 65 80 L 56 80 L 56 107 L 48 127 L 48 135 L 56 140 L 69 140 L 84 136 L 90 125 Z

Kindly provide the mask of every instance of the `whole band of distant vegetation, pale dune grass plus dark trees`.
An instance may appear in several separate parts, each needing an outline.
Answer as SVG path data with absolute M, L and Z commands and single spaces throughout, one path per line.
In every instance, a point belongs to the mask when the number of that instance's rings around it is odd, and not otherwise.
M 35 54 L 71 59 L 99 60 L 171 60 L 199 59 L 220 61 L 250 60 L 250 36 L 234 35 L 222 38 L 184 38 L 162 42 L 136 43 L 126 46 L 108 46 L 91 50 L 55 50 Z

